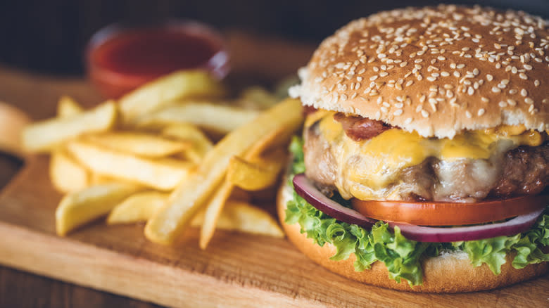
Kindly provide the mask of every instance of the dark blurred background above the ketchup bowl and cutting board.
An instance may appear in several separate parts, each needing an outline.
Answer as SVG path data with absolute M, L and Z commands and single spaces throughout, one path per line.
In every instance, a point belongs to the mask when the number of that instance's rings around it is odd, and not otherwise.
M 1 0 L 0 64 L 56 75 L 82 74 L 82 51 L 101 27 L 120 21 L 201 20 L 220 30 L 318 43 L 376 11 L 440 1 L 367 0 Z M 522 9 L 549 18 L 549 0 L 449 1 Z

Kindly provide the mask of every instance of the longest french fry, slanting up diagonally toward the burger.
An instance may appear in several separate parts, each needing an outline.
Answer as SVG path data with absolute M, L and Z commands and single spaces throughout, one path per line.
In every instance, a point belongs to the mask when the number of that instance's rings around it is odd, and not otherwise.
M 206 154 L 196 172 L 177 187 L 168 206 L 149 220 L 145 227 L 146 237 L 155 243 L 173 243 L 219 186 L 232 156 L 244 155 L 263 136 L 281 127 L 295 131 L 302 122 L 301 102 L 288 99 L 231 131 Z

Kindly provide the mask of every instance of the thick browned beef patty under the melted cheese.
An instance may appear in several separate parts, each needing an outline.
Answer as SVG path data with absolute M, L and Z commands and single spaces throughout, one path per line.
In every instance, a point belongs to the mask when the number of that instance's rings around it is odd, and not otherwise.
M 303 135 L 305 173 L 327 194 L 339 186 L 343 190 L 348 187 L 367 189 L 380 200 L 476 202 L 485 198 L 541 193 L 549 181 L 549 143 L 545 142 L 535 147 L 520 146 L 490 160 L 448 162 L 428 158 L 419 165 L 403 169 L 397 182 L 372 191 L 360 183 L 341 179 L 346 172 L 334 158 L 332 147 L 336 144 L 324 139 L 317 124 L 305 129 Z M 350 198 L 349 191 L 340 189 L 344 198 Z

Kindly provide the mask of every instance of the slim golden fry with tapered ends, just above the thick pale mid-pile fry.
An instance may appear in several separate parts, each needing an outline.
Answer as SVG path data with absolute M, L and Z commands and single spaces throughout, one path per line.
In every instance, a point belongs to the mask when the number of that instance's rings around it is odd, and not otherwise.
M 117 131 L 84 136 L 84 140 L 122 153 L 146 158 L 165 158 L 191 148 L 190 142 L 172 141 L 134 131 Z

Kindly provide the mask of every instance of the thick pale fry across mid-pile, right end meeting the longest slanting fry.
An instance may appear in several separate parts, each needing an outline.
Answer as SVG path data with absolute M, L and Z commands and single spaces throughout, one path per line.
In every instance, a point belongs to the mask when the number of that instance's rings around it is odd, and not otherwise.
M 70 141 L 67 149 L 93 172 L 156 188 L 172 190 L 189 174 L 190 162 L 163 158 L 152 160 L 108 150 L 83 141 Z

